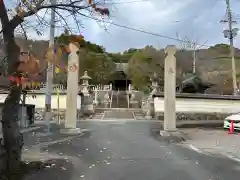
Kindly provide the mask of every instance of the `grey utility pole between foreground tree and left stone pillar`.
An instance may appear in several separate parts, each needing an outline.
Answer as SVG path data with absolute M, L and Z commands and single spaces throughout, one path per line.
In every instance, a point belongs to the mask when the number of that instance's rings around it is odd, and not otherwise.
M 51 5 L 55 5 L 56 0 L 51 0 Z M 49 48 L 52 49 L 52 54 L 54 56 L 54 35 L 55 35 L 55 9 L 51 9 L 51 19 L 50 19 L 50 39 Z M 54 57 L 52 57 L 54 58 Z M 45 121 L 47 125 L 48 132 L 50 132 L 50 121 L 51 121 L 51 101 L 52 101 L 52 87 L 53 87 L 53 61 L 48 60 L 47 67 L 47 79 L 46 79 L 46 96 L 45 96 Z

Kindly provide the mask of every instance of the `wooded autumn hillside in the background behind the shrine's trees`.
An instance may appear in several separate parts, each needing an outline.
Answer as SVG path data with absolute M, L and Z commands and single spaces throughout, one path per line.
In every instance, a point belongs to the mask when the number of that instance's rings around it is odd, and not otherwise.
M 44 56 L 45 52 L 48 49 L 47 41 L 31 41 L 25 40 L 22 38 L 16 39 L 17 44 L 22 47 L 23 51 L 27 51 L 27 47 L 31 44 L 33 54 L 42 62 L 45 63 Z M 91 44 L 90 49 L 100 49 L 100 46 Z M 93 48 L 92 48 L 93 47 Z M 96 48 L 97 47 L 97 48 Z M 103 49 L 103 48 L 102 48 Z M 0 59 L 4 57 L 3 47 L 0 45 Z M 107 53 L 108 57 L 114 62 L 128 62 L 128 59 L 131 58 L 131 55 L 135 52 L 135 49 L 129 49 L 124 53 Z M 235 49 L 236 51 L 236 69 L 240 73 L 240 50 Z M 164 56 L 164 51 L 161 50 L 162 55 Z M 179 50 L 176 53 L 177 58 L 177 69 L 181 74 L 183 72 L 192 71 L 192 54 L 190 50 Z M 231 58 L 229 58 L 229 47 L 228 45 L 219 44 L 209 49 L 200 49 L 196 52 L 197 61 L 196 61 L 196 70 L 200 77 L 204 81 L 216 84 L 215 87 L 209 90 L 211 93 L 221 93 L 226 91 L 226 93 L 232 92 L 232 80 L 231 80 Z M 159 60 L 164 63 L 163 59 Z M 1 63 L 0 63 L 1 66 Z

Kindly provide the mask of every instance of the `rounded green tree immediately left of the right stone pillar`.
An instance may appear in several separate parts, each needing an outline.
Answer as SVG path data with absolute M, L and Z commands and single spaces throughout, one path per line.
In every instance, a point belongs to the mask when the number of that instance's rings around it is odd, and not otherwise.
M 149 91 L 152 78 L 156 78 L 158 84 L 162 85 L 164 79 L 163 52 L 156 50 L 152 46 L 146 46 L 132 55 L 128 66 L 128 76 L 135 88 Z

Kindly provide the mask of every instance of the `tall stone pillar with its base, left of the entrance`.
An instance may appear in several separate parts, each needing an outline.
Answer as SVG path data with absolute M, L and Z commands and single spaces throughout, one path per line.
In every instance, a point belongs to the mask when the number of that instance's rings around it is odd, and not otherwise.
M 66 99 L 66 115 L 64 128 L 62 133 L 76 133 L 80 129 L 77 126 L 77 96 L 78 96 L 78 75 L 79 75 L 79 56 L 77 52 L 79 48 L 70 43 L 69 49 L 71 53 L 68 56 L 68 74 L 67 74 L 67 99 Z

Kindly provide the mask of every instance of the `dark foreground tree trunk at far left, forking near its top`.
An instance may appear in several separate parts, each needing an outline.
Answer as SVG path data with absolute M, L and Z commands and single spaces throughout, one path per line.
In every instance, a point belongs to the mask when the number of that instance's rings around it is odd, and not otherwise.
M 22 22 L 22 19 L 16 16 L 13 20 L 9 21 L 4 2 L 0 0 L 0 21 L 8 61 L 8 75 L 17 77 L 20 76 L 17 72 L 20 48 L 15 42 L 14 29 Z M 5 99 L 2 110 L 3 143 L 7 152 L 5 164 L 9 180 L 20 179 L 17 177 L 21 168 L 21 149 L 23 146 L 23 138 L 18 125 L 20 96 L 21 86 L 17 86 L 15 82 L 10 82 L 9 94 Z

